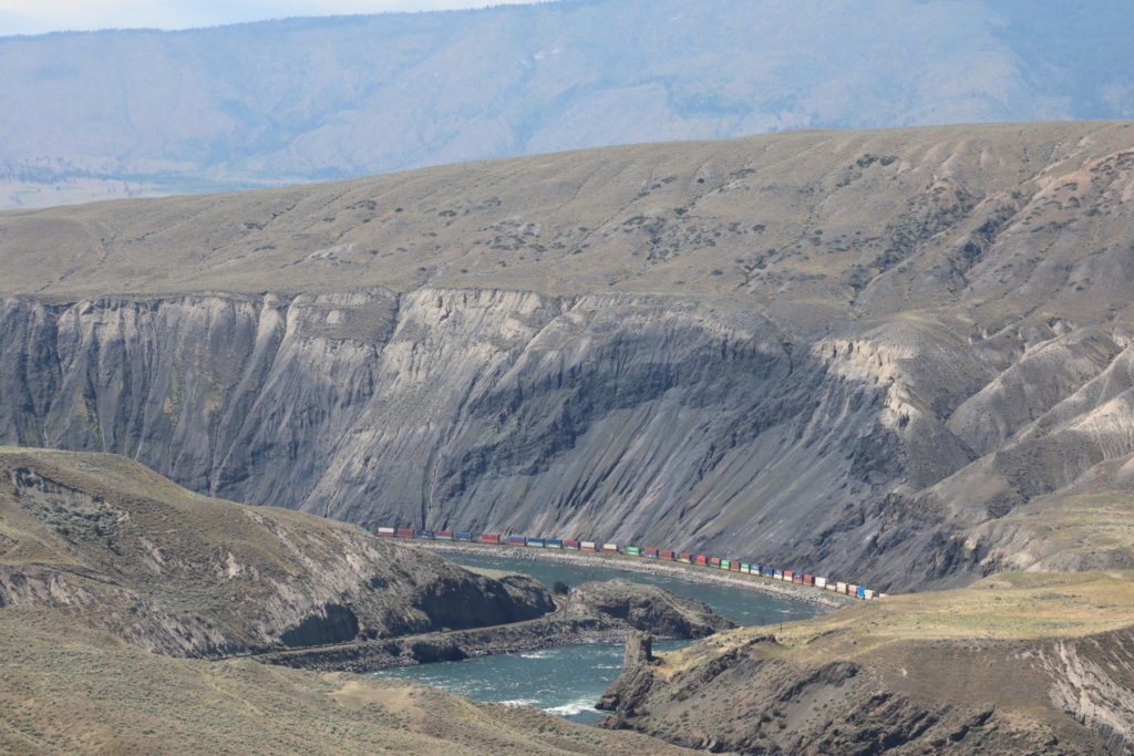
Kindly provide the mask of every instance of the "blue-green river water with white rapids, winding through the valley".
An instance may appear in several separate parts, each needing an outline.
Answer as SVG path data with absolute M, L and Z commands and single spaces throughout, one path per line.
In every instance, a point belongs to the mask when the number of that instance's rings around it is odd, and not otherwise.
M 587 580 L 621 577 L 634 583 L 660 585 L 679 596 L 699 598 L 739 625 L 770 625 L 814 617 L 824 610 L 785 601 L 767 594 L 720 585 L 701 585 L 669 575 L 646 575 L 613 568 L 491 554 L 443 554 L 458 564 L 524 572 L 551 587 L 556 580 L 578 585 Z M 680 648 L 687 642 L 654 644 L 657 651 Z M 452 693 L 499 703 L 534 706 L 578 722 L 594 723 L 604 714 L 594 710 L 602 691 L 623 668 L 621 645 L 593 644 L 543 651 L 477 656 L 460 662 L 440 662 L 374 672 L 376 677 L 401 678 Z

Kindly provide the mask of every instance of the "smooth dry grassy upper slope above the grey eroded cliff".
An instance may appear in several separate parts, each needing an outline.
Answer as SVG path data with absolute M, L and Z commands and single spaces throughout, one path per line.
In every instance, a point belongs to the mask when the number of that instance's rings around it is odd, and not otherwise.
M 539 155 L 3 213 L 0 270 L 7 294 L 57 299 L 433 286 L 665 294 L 803 320 L 1000 311 L 1015 295 L 1018 315 L 1099 298 L 1046 277 L 1123 244 L 1132 151 L 1131 124 L 1068 122 Z

